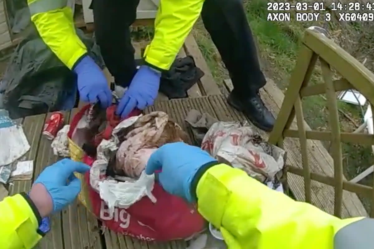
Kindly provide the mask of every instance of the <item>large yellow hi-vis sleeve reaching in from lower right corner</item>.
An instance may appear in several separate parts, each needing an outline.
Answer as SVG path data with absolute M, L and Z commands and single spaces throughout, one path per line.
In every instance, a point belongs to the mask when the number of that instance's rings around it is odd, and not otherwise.
M 334 217 L 224 164 L 215 165 L 202 175 L 196 195 L 200 214 L 220 229 L 229 249 L 345 248 L 334 247 L 338 243 L 334 242 L 335 234 L 364 219 Z

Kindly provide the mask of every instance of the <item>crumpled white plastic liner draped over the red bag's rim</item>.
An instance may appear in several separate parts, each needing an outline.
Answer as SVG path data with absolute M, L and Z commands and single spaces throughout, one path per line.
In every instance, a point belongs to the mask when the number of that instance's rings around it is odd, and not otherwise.
M 140 115 L 133 116 L 120 122 L 113 129 L 110 140 L 101 141 L 97 147 L 96 161 L 90 169 L 90 185 L 108 205 L 110 214 L 113 214 L 115 206 L 128 208 L 144 196 L 148 196 L 153 203 L 157 201 L 151 192 L 154 187 L 154 174 L 147 175 L 143 171 L 139 179 L 122 178 L 125 181 L 117 181 L 105 175 L 110 152 L 118 149 L 119 140 L 116 134 L 122 128 L 134 124 L 139 117 Z

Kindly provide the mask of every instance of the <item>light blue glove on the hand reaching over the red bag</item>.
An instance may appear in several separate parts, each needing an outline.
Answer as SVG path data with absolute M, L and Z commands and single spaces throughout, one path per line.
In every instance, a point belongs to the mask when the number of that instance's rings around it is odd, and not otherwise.
M 161 170 L 159 182 L 163 189 L 193 202 L 191 182 L 199 168 L 210 162 L 217 160 L 199 147 L 183 142 L 169 143 L 152 153 L 145 172 L 151 175 Z

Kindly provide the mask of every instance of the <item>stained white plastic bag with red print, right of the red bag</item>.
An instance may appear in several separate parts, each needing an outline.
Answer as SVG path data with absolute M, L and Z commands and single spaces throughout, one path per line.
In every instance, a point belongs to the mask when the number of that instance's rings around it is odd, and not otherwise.
M 286 152 L 264 141 L 249 124 L 216 122 L 205 134 L 201 148 L 261 183 L 272 181 L 275 188 L 279 185 Z

